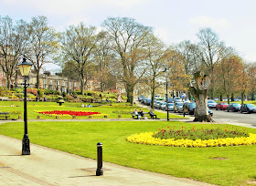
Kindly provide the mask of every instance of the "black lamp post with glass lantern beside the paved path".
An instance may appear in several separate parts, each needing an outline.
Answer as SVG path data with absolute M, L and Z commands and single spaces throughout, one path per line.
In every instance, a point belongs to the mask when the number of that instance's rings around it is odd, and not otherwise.
M 22 140 L 22 155 L 30 154 L 29 138 L 27 135 L 27 78 L 32 67 L 32 64 L 26 61 L 26 58 L 23 58 L 21 64 L 18 65 L 21 76 L 24 77 L 24 136 Z

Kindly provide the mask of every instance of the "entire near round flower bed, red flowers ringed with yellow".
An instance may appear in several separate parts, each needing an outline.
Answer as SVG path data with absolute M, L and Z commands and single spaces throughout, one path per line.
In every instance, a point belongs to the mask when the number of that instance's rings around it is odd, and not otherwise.
M 194 127 L 193 127 L 194 128 Z M 170 132 L 169 129 L 168 132 Z M 189 129 L 188 129 L 189 130 Z M 191 132 L 190 130 L 187 132 Z M 200 129 L 199 129 L 200 130 Z M 206 131 L 210 131 L 212 129 L 204 129 Z M 186 133 L 185 131 L 182 130 L 173 130 L 175 131 L 174 133 Z M 176 132 L 177 131 L 177 132 Z M 219 131 L 219 129 L 217 129 Z M 228 133 L 234 133 L 234 130 L 231 130 L 228 132 L 227 129 L 224 129 L 224 136 L 225 134 L 227 135 Z M 237 130 L 235 130 L 237 131 Z M 178 137 L 176 140 L 175 138 L 170 138 L 166 139 L 166 135 L 161 136 L 161 133 L 165 133 L 165 129 L 159 129 L 158 132 L 146 132 L 146 133 L 140 133 L 140 134 L 133 134 L 132 136 L 128 137 L 126 140 L 129 142 L 133 143 L 139 143 L 139 144 L 147 144 L 147 145 L 160 145 L 160 146 L 172 146 L 172 147 L 224 147 L 224 146 L 238 146 L 238 145 L 252 145 L 256 144 L 256 134 L 247 134 L 245 132 L 242 132 L 241 136 L 242 137 L 233 137 L 233 138 L 216 138 L 216 139 L 208 139 L 208 140 L 191 140 L 188 138 L 186 139 L 186 135 L 184 135 L 184 138 Z M 194 128 L 193 130 L 194 133 L 198 133 L 196 129 Z M 161 138 L 157 138 L 157 135 L 160 136 Z M 172 133 L 172 132 L 171 132 Z M 189 133 L 191 137 L 191 133 Z M 181 136 L 182 136 L 181 135 Z M 214 136 L 214 135 L 213 135 Z M 221 136 L 221 135 L 220 135 Z M 229 136 L 229 135 L 228 135 Z M 236 134 L 235 134 L 236 136 Z M 214 138 L 214 137 L 213 137 Z

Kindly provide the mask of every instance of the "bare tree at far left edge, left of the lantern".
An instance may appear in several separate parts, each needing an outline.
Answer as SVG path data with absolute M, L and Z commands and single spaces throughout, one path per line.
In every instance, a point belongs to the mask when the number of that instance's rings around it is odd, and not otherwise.
M 11 88 L 11 79 L 16 73 L 16 65 L 24 54 L 27 43 L 27 23 L 23 20 L 16 24 L 9 16 L 0 16 L 0 67 Z

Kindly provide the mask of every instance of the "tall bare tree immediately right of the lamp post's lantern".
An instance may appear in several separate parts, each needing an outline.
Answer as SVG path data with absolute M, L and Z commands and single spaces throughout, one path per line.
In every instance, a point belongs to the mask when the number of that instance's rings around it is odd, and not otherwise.
M 32 17 L 29 24 L 29 41 L 26 57 L 37 73 L 37 88 L 40 88 L 39 73 L 43 65 L 52 63 L 59 49 L 57 33 L 48 26 L 46 16 Z

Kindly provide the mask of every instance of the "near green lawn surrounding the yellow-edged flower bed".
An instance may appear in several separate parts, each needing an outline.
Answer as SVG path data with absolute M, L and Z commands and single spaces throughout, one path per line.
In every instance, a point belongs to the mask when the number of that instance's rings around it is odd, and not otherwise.
M 197 128 L 232 127 L 220 124 L 193 125 Z M 134 144 L 125 140 L 134 133 L 158 131 L 168 126 L 189 128 L 191 124 L 176 121 L 29 121 L 28 136 L 32 143 L 91 159 L 96 159 L 96 144 L 101 142 L 104 161 L 212 184 L 247 185 L 247 181 L 255 179 L 255 145 L 177 148 Z M 5 123 L 0 126 L 0 133 L 21 140 L 23 129 L 22 122 Z M 256 129 L 246 131 L 256 133 Z

